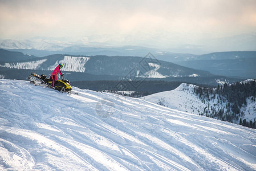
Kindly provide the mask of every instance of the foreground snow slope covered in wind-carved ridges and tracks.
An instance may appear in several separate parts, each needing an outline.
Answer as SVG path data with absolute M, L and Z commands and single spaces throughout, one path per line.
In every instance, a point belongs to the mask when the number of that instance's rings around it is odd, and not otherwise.
M 0 80 L 0 170 L 256 170 L 256 131 L 141 99 Z

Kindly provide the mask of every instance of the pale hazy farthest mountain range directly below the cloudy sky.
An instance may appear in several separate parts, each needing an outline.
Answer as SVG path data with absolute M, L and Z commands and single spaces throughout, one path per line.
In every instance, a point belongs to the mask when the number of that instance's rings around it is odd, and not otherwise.
M 143 35 L 143 36 L 142 36 Z M 156 52 L 174 52 L 174 53 L 190 53 L 190 54 L 206 54 L 216 51 L 255 51 L 256 47 L 256 34 L 250 32 L 246 34 L 239 34 L 234 36 L 222 37 L 222 38 L 210 38 L 208 35 L 204 35 L 205 38 L 197 39 L 192 43 L 188 40 L 188 36 L 181 35 L 170 36 L 169 34 L 159 35 L 145 34 L 143 31 L 136 36 L 132 35 L 94 35 L 94 36 L 65 36 L 65 37 L 45 37 L 36 36 L 29 39 L 0 39 L 0 48 L 16 49 L 16 50 L 39 50 L 43 51 L 62 51 L 66 54 L 73 55 L 124 55 L 124 56 L 144 56 L 148 52 L 152 54 Z M 144 37 L 144 38 L 143 38 Z M 161 37 L 163 39 L 161 39 Z M 145 39 L 146 38 L 146 39 Z M 133 44 L 133 46 L 131 46 Z M 123 48 L 125 47 L 125 48 Z M 127 48 L 128 47 L 128 48 Z M 132 48 L 131 48 L 132 47 Z M 139 47 L 139 48 L 136 48 Z M 147 47 L 147 48 L 146 48 Z M 150 48 L 149 48 L 150 47 Z M 83 51 L 83 48 L 87 48 Z M 99 54 L 101 48 L 105 48 L 103 54 Z M 115 49 L 115 50 L 113 50 Z M 150 51 L 144 51 L 139 55 L 137 52 L 141 50 L 151 49 Z M 83 51 L 83 53 L 79 53 Z M 136 52 L 137 51 L 137 52 Z M 30 51 L 35 52 L 35 51 Z M 36 53 L 38 53 L 36 52 Z M 86 53 L 85 53 L 86 52 Z M 94 54 L 87 54 L 92 52 Z M 95 52 L 97 52 L 95 54 Z M 108 54 L 106 54 L 108 52 Z M 25 52 L 26 54 L 27 52 Z M 75 54 L 77 53 L 77 54 Z M 116 54 L 119 53 L 119 54 Z M 120 54 L 121 53 L 121 54 Z M 127 54 L 129 53 L 129 54 Z M 54 52 L 59 54 L 59 52 Z M 35 55 L 35 54 L 31 54 Z M 40 57 L 52 55 L 44 54 Z M 155 55 L 155 54 L 154 54 Z M 39 56 L 39 55 L 35 55 Z

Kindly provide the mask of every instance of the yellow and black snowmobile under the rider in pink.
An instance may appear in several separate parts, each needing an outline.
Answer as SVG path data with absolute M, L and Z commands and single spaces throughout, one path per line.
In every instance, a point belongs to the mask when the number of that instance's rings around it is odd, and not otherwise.
M 34 72 L 32 72 L 30 75 L 29 75 L 29 80 L 30 83 L 32 84 L 35 84 L 35 85 L 43 85 L 43 86 L 46 86 L 46 87 L 49 87 L 49 88 L 52 88 L 52 89 L 56 89 L 60 92 L 67 92 L 69 94 L 72 93 L 72 87 L 70 86 L 70 82 L 68 80 L 65 80 L 63 79 L 63 76 L 62 76 L 62 79 L 61 80 L 57 80 L 55 82 L 55 85 L 54 87 L 51 86 L 51 83 L 52 83 L 52 79 L 51 78 L 46 78 L 47 76 L 42 74 L 42 75 L 38 75 L 38 74 L 35 74 Z M 35 83 L 35 81 L 39 81 L 40 84 L 37 84 Z M 78 95 L 78 93 L 75 92 L 76 95 Z

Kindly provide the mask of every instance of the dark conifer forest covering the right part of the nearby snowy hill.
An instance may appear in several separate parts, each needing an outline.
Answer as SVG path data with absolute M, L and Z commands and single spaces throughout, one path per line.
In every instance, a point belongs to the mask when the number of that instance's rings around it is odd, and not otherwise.
M 203 103 L 208 104 L 208 107 L 205 107 L 200 115 L 214 117 L 231 123 L 239 121 L 240 125 L 255 128 L 255 119 L 243 117 L 245 114 L 256 116 L 255 80 L 247 80 L 246 82 L 230 85 L 225 83 L 217 88 L 194 87 L 194 93 L 200 97 Z M 221 104 L 222 108 L 216 108 L 217 104 L 211 103 L 211 101 Z

